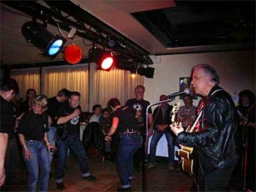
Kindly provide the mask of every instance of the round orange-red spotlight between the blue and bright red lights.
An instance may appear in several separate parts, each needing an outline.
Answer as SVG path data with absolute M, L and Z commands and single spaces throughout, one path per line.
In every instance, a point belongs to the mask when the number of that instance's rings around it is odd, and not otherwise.
M 78 64 L 82 58 L 82 50 L 78 45 L 72 44 L 66 47 L 64 58 L 69 64 Z

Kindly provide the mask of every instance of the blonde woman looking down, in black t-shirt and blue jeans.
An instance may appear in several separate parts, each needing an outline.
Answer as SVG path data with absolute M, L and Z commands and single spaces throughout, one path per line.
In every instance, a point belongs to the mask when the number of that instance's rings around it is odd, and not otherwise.
M 47 98 L 37 96 L 29 112 L 23 115 L 18 128 L 18 136 L 23 146 L 23 159 L 29 172 L 26 190 L 36 191 L 40 167 L 40 191 L 48 191 L 48 178 L 50 173 L 48 151 L 54 148 L 48 142 Z M 56 148 L 54 148 L 56 149 Z

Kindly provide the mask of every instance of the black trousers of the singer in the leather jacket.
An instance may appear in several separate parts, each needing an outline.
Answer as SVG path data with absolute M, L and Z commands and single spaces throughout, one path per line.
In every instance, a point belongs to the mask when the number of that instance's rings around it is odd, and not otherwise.
M 204 175 L 199 171 L 199 191 L 228 191 L 230 176 L 236 163 L 228 164 L 227 166 L 207 172 Z

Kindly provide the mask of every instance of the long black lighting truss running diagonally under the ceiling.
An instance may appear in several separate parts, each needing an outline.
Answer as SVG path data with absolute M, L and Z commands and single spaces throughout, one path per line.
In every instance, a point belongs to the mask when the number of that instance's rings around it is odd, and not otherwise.
M 127 37 L 124 37 L 124 35 L 103 23 L 101 20 L 89 14 L 85 9 L 82 9 L 78 5 L 72 3 L 72 1 L 61 1 L 61 3 L 59 1 L 45 2 L 51 7 L 50 9 L 37 3 L 37 1 L 1 1 L 1 3 L 6 4 L 9 7 L 17 9 L 20 12 L 24 12 L 33 18 L 42 20 L 43 22 L 47 21 L 47 23 L 56 27 L 56 20 L 60 20 L 61 22 L 58 23 L 61 29 L 69 31 L 71 29 L 69 26 L 75 27 L 80 30 L 77 31 L 76 35 L 84 39 L 89 39 L 89 41 L 102 45 L 102 47 L 106 47 L 108 38 L 111 37 L 116 42 L 121 42 L 121 45 L 118 45 L 117 47 L 108 47 L 110 50 L 113 50 L 118 54 L 126 55 L 129 58 L 133 58 L 144 64 L 153 64 L 148 51 L 144 50 L 130 39 L 127 39 Z M 69 17 L 61 15 L 61 12 L 65 12 L 77 22 L 69 19 Z M 54 20 L 53 17 L 56 20 Z M 84 23 L 96 29 L 96 32 L 86 28 Z M 107 37 L 103 36 L 101 33 L 105 34 Z

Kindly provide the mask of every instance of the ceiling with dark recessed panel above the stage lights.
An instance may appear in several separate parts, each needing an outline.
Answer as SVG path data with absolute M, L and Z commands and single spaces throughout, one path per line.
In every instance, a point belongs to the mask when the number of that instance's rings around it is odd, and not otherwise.
M 113 48 L 114 53 L 127 53 L 136 58 L 255 49 L 255 1 L 72 0 L 60 4 L 59 1 L 40 0 L 30 2 L 31 7 L 22 6 L 23 2 L 1 1 L 1 64 L 63 60 L 63 53 L 54 60 L 42 56 L 40 50 L 24 39 L 21 27 L 33 18 L 29 15 L 32 9 L 38 22 L 48 17 L 47 28 L 53 34 L 61 31 L 67 35 L 68 29 L 76 26 L 79 30 L 75 38 L 68 39 L 65 46 L 79 45 L 83 58 L 88 58 L 92 42 L 100 45 L 102 39 L 110 37 L 119 42 L 119 46 Z M 35 2 L 55 11 L 55 20 L 50 20 L 48 11 L 40 15 Z M 56 21 L 57 11 L 63 20 Z M 56 23 L 60 24 L 60 30 Z

